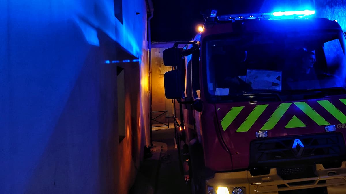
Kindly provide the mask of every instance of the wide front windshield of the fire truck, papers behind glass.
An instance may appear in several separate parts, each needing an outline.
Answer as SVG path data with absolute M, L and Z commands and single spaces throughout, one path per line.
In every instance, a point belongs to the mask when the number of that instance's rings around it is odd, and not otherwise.
M 292 94 L 345 87 L 341 30 L 211 36 L 204 55 L 207 96 L 213 101 L 251 101 L 248 94 L 265 93 L 299 100 L 304 97 Z

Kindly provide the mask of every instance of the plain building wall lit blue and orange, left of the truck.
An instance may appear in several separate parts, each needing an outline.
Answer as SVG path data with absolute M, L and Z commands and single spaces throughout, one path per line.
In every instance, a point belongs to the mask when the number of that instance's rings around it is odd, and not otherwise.
M 0 192 L 127 193 L 150 142 L 146 0 L 0 15 Z

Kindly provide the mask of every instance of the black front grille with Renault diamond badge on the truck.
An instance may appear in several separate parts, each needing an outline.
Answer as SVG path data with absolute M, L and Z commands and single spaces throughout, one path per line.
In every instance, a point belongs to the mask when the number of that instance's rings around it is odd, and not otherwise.
M 256 139 L 250 144 L 249 167 L 323 164 L 343 160 L 345 156 L 345 141 L 341 133 L 263 138 Z M 283 170 L 282 173 L 290 171 L 302 173 L 303 170 L 302 167 L 295 167 Z

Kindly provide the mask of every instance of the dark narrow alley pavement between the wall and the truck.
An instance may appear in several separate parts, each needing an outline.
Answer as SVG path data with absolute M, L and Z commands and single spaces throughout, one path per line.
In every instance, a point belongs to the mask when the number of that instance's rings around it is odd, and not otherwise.
M 153 130 L 153 156 L 144 159 L 129 194 L 190 194 L 180 172 L 174 129 Z

